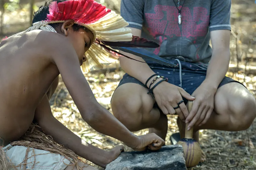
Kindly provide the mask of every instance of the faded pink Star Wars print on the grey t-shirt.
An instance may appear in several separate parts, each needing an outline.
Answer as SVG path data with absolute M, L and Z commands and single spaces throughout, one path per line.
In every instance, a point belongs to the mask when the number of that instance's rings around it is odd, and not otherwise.
M 156 48 L 155 54 L 160 52 L 161 44 L 168 38 L 176 36 L 193 39 L 193 44 L 196 44 L 196 37 L 204 37 L 208 32 L 210 16 L 206 8 L 193 7 L 190 10 L 188 7 L 183 7 L 181 11 L 181 29 L 178 23 L 179 13 L 176 6 L 156 5 L 154 11 L 155 13 L 146 13 L 145 18 L 150 35 L 155 39 L 159 36 L 160 47 Z M 166 11 L 166 14 L 163 11 Z M 199 59 L 198 55 L 196 57 Z

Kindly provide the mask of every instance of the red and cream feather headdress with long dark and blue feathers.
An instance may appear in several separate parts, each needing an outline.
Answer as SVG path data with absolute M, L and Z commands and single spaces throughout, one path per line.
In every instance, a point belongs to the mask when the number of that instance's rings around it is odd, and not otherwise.
M 49 24 L 63 23 L 68 19 L 74 20 L 75 24 L 86 27 L 94 35 L 94 43 L 85 53 L 87 60 L 81 66 L 83 73 L 88 73 L 95 68 L 102 68 L 103 65 L 116 61 L 119 56 L 128 57 L 116 50 L 132 52 L 140 56 L 140 49 L 134 52 L 133 47 L 159 47 L 158 44 L 152 41 L 132 36 L 131 29 L 126 27 L 129 24 L 124 18 L 94 0 L 67 0 L 60 3 L 53 1 L 49 5 L 49 14 L 47 14 L 47 18 L 44 21 L 36 22 L 28 30 L 15 35 L 23 35 L 36 29 L 56 32 Z M 120 46 L 124 48 L 116 48 Z M 119 55 L 114 57 L 111 53 Z M 154 53 L 148 52 L 141 57 L 155 60 L 171 67 L 175 66 L 170 61 L 164 60 Z

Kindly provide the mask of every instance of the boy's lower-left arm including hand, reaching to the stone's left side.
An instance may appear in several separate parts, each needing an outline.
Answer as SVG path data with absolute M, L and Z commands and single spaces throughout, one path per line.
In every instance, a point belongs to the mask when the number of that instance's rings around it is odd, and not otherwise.
M 38 125 L 43 128 L 44 132 L 47 135 L 52 136 L 57 143 L 64 145 L 77 155 L 103 168 L 116 159 L 122 149 L 124 149 L 124 146 L 120 145 L 107 152 L 79 138 L 53 117 L 50 103 L 46 95 L 36 108 L 35 119 L 38 122 Z

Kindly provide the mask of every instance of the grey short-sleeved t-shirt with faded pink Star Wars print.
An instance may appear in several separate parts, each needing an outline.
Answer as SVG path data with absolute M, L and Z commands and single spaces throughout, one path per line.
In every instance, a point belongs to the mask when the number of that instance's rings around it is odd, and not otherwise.
M 174 0 L 176 5 L 178 0 Z M 159 48 L 147 50 L 160 57 L 182 56 L 188 62 L 208 64 L 212 56 L 210 32 L 231 30 L 231 0 L 122 0 L 121 16 L 128 27 L 142 30 L 141 37 Z M 183 6 L 182 6 L 183 5 Z

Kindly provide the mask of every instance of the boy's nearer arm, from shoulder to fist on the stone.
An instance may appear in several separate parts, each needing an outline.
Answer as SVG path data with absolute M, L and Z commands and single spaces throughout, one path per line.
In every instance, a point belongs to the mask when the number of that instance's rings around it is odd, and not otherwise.
M 164 144 L 163 139 L 155 134 L 134 135 L 97 102 L 81 71 L 76 52 L 67 41 L 67 39 L 59 40 L 58 46 L 55 45 L 51 54 L 82 118 L 96 131 L 116 138 L 134 150 L 144 150 L 148 145 L 152 150 L 160 149 Z M 152 143 L 154 143 L 154 147 L 152 147 Z

